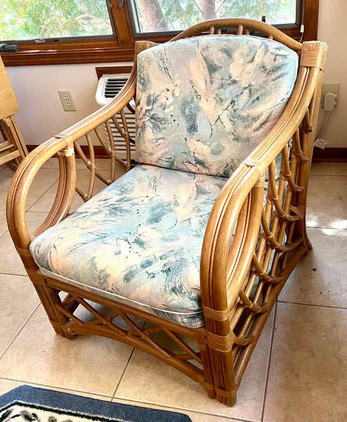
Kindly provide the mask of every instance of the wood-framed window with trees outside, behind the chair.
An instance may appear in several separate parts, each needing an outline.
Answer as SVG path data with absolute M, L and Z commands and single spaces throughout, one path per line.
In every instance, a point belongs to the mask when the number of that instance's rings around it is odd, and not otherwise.
M 164 42 L 201 20 L 255 18 L 296 40 L 317 39 L 319 0 L 0 0 L 5 65 L 133 60 L 136 39 Z

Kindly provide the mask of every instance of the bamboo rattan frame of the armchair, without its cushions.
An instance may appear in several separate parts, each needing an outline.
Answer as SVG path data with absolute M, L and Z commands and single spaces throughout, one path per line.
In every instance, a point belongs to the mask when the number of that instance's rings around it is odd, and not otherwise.
M 297 262 L 311 249 L 305 225 L 306 196 L 327 46 L 317 41 L 300 44 L 270 25 L 247 19 L 199 23 L 174 39 L 221 34 L 224 28 L 235 28 L 237 34 L 258 31 L 280 41 L 299 54 L 300 65 L 292 97 L 280 120 L 228 179 L 209 217 L 200 268 L 205 326 L 179 326 L 44 276 L 29 250 L 32 236 L 68 214 L 75 189 L 88 200 L 95 177 L 110 184 L 117 162 L 126 170 L 131 167 L 133 140 L 124 108 L 131 109 L 129 103 L 136 95 L 136 56 L 154 43 L 136 43 L 133 70 L 114 100 L 38 146 L 22 162 L 8 193 L 7 217 L 15 247 L 57 333 L 69 339 L 79 333 L 103 335 L 138 347 L 195 380 L 207 390 L 209 397 L 233 406 L 242 375 L 277 296 Z M 120 160 L 112 142 L 107 144 L 100 134 L 100 127 L 105 124 L 112 139 L 110 120 L 124 137 L 126 160 Z M 96 169 L 92 133 L 110 157 L 109 180 Z M 84 136 L 90 158 L 79 146 Z M 85 193 L 76 184 L 74 150 L 91 171 Z M 44 223 L 30 236 L 25 224 L 27 193 L 41 165 L 55 154 L 60 163 L 56 198 Z M 276 181 L 275 159 L 279 154 L 282 170 L 280 180 Z M 267 170 L 268 182 L 265 181 Z M 268 188 L 263 205 L 265 184 Z M 252 289 L 255 293 L 251 296 Z M 60 299 L 60 291 L 67 293 L 64 300 Z M 104 316 L 87 300 L 109 308 L 109 314 Z M 79 319 L 75 312 L 78 307 L 93 315 L 93 321 Z M 136 323 L 133 316 L 143 324 Z M 126 322 L 128 330 L 117 326 L 119 319 Z M 158 332 L 174 340 L 179 352 L 166 350 L 157 343 Z

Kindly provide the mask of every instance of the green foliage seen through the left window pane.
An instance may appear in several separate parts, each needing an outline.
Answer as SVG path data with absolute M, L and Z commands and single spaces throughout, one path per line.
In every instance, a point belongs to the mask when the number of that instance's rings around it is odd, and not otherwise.
M 0 0 L 0 39 L 112 34 L 105 0 Z

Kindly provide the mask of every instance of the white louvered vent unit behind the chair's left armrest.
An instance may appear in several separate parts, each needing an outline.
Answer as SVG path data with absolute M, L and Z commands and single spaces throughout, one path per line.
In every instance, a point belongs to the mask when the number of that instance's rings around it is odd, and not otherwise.
M 99 79 L 98 89 L 96 90 L 96 102 L 100 106 L 105 106 L 109 101 L 116 96 L 119 91 L 124 87 L 126 81 L 128 80 L 129 75 L 120 74 L 120 75 L 103 75 Z M 131 104 L 135 106 L 135 104 Z M 128 124 L 129 134 L 132 139 L 135 139 L 135 115 L 131 113 L 130 110 L 124 109 L 126 114 L 126 122 Z M 114 139 L 114 148 L 116 149 L 117 155 L 119 158 L 126 158 L 126 146 L 125 141 L 122 136 L 119 135 L 116 127 L 112 120 L 110 120 L 110 126 L 112 129 L 112 136 Z M 107 134 L 107 129 L 104 127 L 104 134 L 107 141 L 110 141 Z M 135 156 L 135 146 L 131 144 L 131 158 Z

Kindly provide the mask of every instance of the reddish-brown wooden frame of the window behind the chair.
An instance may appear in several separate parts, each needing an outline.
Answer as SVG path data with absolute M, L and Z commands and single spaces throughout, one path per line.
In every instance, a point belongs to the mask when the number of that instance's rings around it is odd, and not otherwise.
M 303 41 L 317 39 L 319 0 L 301 1 L 301 21 L 305 26 Z M 131 15 L 127 0 L 110 0 L 111 15 L 116 37 L 107 39 L 80 39 L 74 41 L 53 41 L 48 43 L 21 42 L 19 51 L 1 53 L 6 66 L 24 65 L 61 65 L 77 63 L 112 63 L 133 61 L 134 37 Z M 304 6 L 304 8 L 303 8 Z M 300 41 L 300 27 L 283 27 L 279 29 L 296 41 Z M 285 26 L 285 25 L 284 25 Z M 150 34 L 145 39 L 155 42 L 169 41 L 172 34 Z

